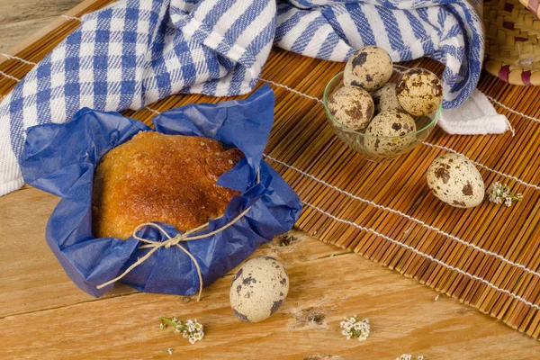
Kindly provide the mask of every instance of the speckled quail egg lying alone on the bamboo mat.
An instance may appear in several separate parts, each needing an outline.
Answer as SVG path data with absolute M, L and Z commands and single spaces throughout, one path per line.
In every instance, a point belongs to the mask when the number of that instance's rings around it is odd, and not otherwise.
M 466 157 L 445 154 L 428 168 L 429 189 L 443 202 L 458 208 L 472 208 L 484 198 L 482 175 Z

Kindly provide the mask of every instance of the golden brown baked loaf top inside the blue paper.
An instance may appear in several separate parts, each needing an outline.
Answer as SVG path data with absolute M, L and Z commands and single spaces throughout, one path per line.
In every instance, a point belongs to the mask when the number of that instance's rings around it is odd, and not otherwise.
M 102 158 L 94 175 L 96 238 L 130 238 L 142 222 L 180 231 L 223 214 L 233 195 L 216 185 L 243 154 L 212 139 L 139 132 Z

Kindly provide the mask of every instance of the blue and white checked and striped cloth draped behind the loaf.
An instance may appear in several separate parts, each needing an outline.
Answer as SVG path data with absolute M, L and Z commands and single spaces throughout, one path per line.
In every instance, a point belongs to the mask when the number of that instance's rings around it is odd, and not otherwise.
M 0 195 L 23 185 L 28 127 L 85 106 L 245 94 L 273 44 L 335 61 L 373 44 L 394 61 L 427 55 L 446 64 L 446 108 L 473 92 L 483 58 L 482 22 L 466 0 L 119 0 L 85 15 L 0 103 Z

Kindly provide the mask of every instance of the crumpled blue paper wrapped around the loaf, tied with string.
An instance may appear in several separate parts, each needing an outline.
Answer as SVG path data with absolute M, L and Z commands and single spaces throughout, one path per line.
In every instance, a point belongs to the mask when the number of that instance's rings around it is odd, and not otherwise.
M 222 218 L 210 220 L 209 228 L 198 234 L 220 228 L 249 206 L 251 210 L 216 235 L 181 243 L 201 267 L 205 286 L 238 266 L 261 244 L 291 229 L 300 216 L 302 203 L 296 193 L 262 160 L 274 122 L 274 102 L 274 93 L 266 85 L 247 100 L 192 104 L 154 118 L 159 132 L 216 139 L 246 155 L 218 181 L 242 194 L 229 202 Z M 73 282 L 96 297 L 113 286 L 98 290 L 97 285 L 120 275 L 149 251 L 139 249 L 140 242 L 134 238 L 124 241 L 92 234 L 95 167 L 107 151 L 140 130 L 151 131 L 117 112 L 82 109 L 67 123 L 30 128 L 20 160 L 27 184 L 62 198 L 47 224 L 47 243 Z M 161 225 L 169 235 L 178 234 L 172 225 Z M 141 229 L 138 235 L 166 240 L 155 228 Z M 196 268 L 178 247 L 159 248 L 121 283 L 146 293 L 190 295 L 199 290 Z

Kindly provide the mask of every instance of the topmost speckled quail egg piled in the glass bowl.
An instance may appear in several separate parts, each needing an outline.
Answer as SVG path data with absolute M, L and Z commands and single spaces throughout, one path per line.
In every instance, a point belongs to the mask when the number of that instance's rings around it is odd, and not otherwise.
M 390 80 L 392 71 L 392 58 L 388 52 L 376 46 L 366 46 L 348 59 L 343 82 L 345 85 L 361 86 L 367 91 L 374 91 Z

